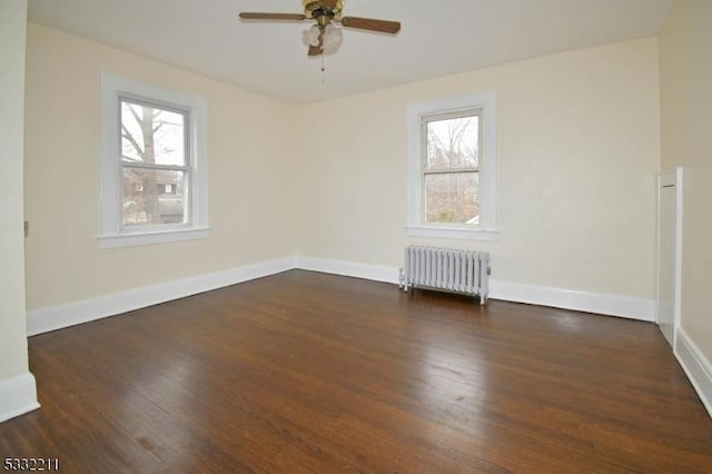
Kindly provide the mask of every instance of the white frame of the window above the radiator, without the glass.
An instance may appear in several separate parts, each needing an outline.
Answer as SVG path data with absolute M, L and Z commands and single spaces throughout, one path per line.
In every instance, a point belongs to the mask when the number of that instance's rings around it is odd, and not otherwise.
M 464 112 L 475 112 L 479 116 L 479 223 L 476 225 L 425 223 L 423 122 L 429 118 Z M 407 125 L 407 234 L 413 237 L 496 240 L 500 234 L 496 228 L 496 93 L 486 91 L 475 96 L 414 103 L 408 107 Z

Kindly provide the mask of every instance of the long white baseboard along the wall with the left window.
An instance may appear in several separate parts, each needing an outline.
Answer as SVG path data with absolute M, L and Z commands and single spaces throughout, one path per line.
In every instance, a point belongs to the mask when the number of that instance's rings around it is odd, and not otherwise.
M 76 324 L 132 312 L 172 299 L 184 298 L 186 296 L 290 270 L 294 267 L 295 259 L 288 257 L 130 289 L 98 298 L 48 308 L 31 309 L 27 313 L 28 335 L 34 336 Z

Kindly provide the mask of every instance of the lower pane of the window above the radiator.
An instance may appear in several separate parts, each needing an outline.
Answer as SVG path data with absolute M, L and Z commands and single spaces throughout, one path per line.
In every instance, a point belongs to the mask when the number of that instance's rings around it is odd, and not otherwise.
M 425 221 L 479 224 L 479 174 L 425 175 Z

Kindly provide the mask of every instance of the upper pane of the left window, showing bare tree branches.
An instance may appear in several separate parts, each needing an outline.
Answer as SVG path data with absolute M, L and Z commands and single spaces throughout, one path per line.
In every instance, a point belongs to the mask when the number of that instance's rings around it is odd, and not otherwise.
M 186 165 L 186 116 L 121 100 L 121 160 Z

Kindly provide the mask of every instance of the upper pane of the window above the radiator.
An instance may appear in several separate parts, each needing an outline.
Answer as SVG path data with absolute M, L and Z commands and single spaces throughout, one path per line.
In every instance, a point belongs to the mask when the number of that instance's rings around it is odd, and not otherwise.
M 479 117 L 431 120 L 426 124 L 426 169 L 477 168 Z

